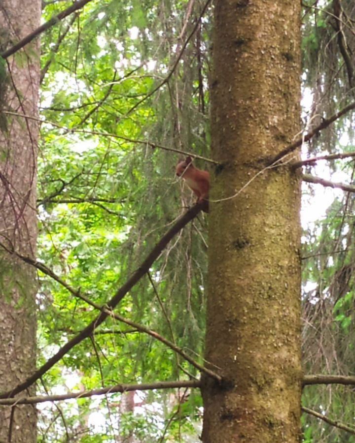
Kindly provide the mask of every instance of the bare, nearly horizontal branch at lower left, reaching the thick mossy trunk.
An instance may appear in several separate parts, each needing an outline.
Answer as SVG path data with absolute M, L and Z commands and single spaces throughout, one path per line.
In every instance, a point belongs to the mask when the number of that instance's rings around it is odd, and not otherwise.
M 147 391 L 152 389 L 174 389 L 174 388 L 199 388 L 201 387 L 200 380 L 181 380 L 181 381 L 156 381 L 153 383 L 142 384 L 116 384 L 101 389 L 91 389 L 90 391 L 70 392 L 68 394 L 59 395 L 45 395 L 36 397 L 21 397 L 21 398 L 4 398 L 0 399 L 0 405 L 21 405 L 33 404 L 43 402 L 57 402 L 61 400 L 70 400 L 84 397 L 92 397 L 93 395 L 114 394 L 116 392 L 128 391 Z

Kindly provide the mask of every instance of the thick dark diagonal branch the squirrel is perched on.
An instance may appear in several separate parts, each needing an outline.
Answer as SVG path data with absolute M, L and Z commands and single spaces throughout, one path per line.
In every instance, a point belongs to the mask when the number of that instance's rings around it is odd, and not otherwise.
M 141 266 L 133 273 L 133 275 L 127 280 L 127 282 L 121 286 L 116 294 L 109 300 L 106 305 L 105 310 L 103 310 L 91 323 L 89 323 L 79 334 L 69 340 L 59 351 L 49 358 L 46 363 L 44 363 L 35 373 L 28 379 L 18 384 L 13 389 L 0 394 L 0 398 L 12 397 L 19 392 L 27 389 L 36 380 L 43 376 L 50 368 L 52 368 L 61 358 L 64 357 L 74 346 L 81 343 L 84 339 L 89 337 L 94 330 L 103 323 L 106 318 L 111 315 L 111 311 L 117 306 L 117 304 L 122 300 L 122 298 L 127 294 L 129 290 L 136 285 L 144 274 L 149 271 L 149 268 L 154 263 L 154 261 L 160 256 L 162 251 L 168 245 L 170 240 L 192 219 L 194 219 L 197 214 L 203 209 L 205 202 L 202 201 L 194 205 L 185 214 L 183 214 L 178 221 L 169 229 L 169 231 L 160 239 L 160 241 L 155 245 L 153 250 L 148 254 L 145 260 L 142 262 Z

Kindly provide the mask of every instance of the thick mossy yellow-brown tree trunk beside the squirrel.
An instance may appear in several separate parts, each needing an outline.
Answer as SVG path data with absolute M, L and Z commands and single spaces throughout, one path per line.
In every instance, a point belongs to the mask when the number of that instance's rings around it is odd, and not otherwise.
M 204 443 L 300 441 L 300 3 L 217 0 Z M 297 154 L 292 154 L 297 157 Z M 238 196 L 230 197 L 247 182 Z

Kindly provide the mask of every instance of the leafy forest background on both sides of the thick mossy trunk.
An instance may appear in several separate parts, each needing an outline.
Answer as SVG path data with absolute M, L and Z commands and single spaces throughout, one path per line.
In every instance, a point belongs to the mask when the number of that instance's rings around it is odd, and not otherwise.
M 42 2 L 49 25 L 40 32 L 39 116 L 26 119 L 40 129 L 36 259 L 5 236 L 0 241 L 4 300 L 15 285 L 21 309 L 28 290 L 9 253 L 36 269 L 37 367 L 73 337 L 87 337 L 38 377 L 37 441 L 197 442 L 203 402 L 193 386 L 205 363 L 209 216 L 190 213 L 166 248 L 154 248 L 196 201 L 175 176 L 178 158 L 190 154 L 200 168 L 218 169 L 210 127 L 213 5 L 77 3 L 50 22 L 72 2 Z M 306 208 L 303 368 L 344 376 L 336 379 L 343 384 L 319 378 L 324 384 L 305 386 L 308 443 L 355 442 L 354 392 L 344 386 L 355 384 L 348 377 L 355 363 L 354 10 L 352 1 L 333 0 L 303 2 L 301 12 L 302 132 L 293 135 L 304 155 L 297 165 Z M 1 81 L 11 83 L 10 57 L 21 67 L 36 57 L 0 49 Z M 4 108 L 1 130 L 11 121 L 25 128 L 24 114 Z M 339 190 L 324 193 L 320 185 Z M 119 295 L 113 314 L 105 304 L 151 251 L 154 260 L 129 296 Z M 106 320 L 88 331 L 97 309 Z M 100 388 L 100 396 L 75 399 Z M 41 403 L 57 394 L 71 400 Z

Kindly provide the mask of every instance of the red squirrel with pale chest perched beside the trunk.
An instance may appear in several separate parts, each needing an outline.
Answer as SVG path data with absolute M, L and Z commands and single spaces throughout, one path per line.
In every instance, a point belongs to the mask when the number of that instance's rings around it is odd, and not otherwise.
M 182 177 L 187 186 L 197 195 L 197 202 L 205 201 L 204 212 L 209 212 L 208 196 L 210 190 L 210 173 L 195 168 L 192 164 L 192 158 L 186 157 L 179 160 L 176 166 L 176 175 Z

